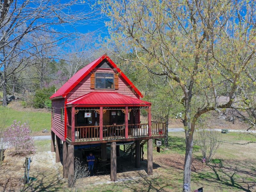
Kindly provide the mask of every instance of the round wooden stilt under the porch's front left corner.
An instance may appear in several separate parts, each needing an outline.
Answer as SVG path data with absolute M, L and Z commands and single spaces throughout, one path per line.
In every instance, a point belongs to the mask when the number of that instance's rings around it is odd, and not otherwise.
M 75 171 L 75 150 L 74 145 L 68 145 L 68 187 L 74 186 L 74 171 Z

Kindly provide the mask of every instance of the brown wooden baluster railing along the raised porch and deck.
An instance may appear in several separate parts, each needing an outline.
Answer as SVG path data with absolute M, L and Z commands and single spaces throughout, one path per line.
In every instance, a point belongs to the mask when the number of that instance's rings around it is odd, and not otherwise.
M 164 135 L 164 123 L 151 123 L 152 136 Z M 103 140 L 124 139 L 125 125 L 103 125 Z M 128 124 L 128 137 L 148 136 L 148 124 Z M 67 125 L 67 137 L 72 140 L 72 128 Z M 100 126 L 76 126 L 75 141 L 100 140 Z

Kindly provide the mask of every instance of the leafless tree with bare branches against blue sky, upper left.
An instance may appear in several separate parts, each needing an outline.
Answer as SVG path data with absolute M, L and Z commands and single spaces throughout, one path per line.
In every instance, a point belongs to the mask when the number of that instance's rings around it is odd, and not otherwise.
M 44 49 L 59 47 L 71 40 L 84 37 L 76 26 L 97 19 L 84 1 L 0 1 L 0 87 L 3 105 L 6 106 L 6 89 L 12 76 L 34 65 Z M 79 11 L 75 9 L 81 8 Z M 54 29 L 55 28 L 55 29 Z M 36 41 L 36 39 L 47 41 Z M 45 55 L 44 59 L 56 55 Z M 59 56 L 64 55 L 59 52 Z M 42 58 L 41 58 L 42 59 Z M 44 60 L 42 61 L 44 65 Z

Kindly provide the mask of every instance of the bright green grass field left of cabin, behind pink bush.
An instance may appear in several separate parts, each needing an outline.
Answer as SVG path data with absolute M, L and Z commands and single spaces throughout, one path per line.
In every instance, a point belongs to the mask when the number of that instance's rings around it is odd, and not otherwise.
M 32 132 L 51 130 L 51 113 L 16 111 L 12 108 L 0 107 L 1 124 L 10 126 L 14 120 L 21 123 L 28 122 Z M 4 123 L 3 123 L 4 122 Z

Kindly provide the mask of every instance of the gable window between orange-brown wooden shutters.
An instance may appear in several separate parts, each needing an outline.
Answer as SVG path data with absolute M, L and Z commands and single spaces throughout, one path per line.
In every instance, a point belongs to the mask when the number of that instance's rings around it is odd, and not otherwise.
M 95 89 L 115 89 L 114 73 L 95 73 Z

